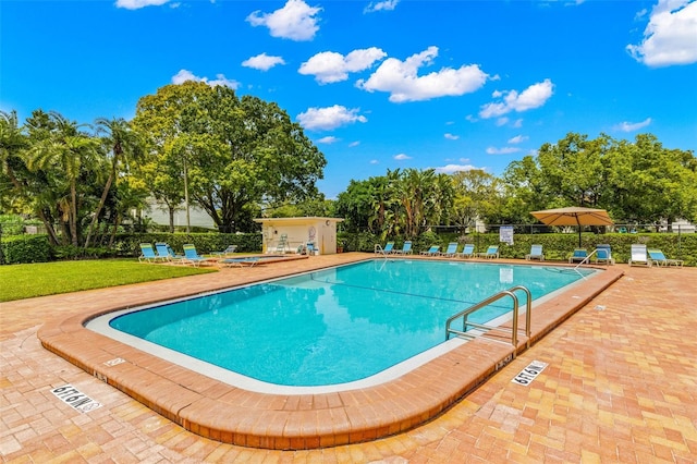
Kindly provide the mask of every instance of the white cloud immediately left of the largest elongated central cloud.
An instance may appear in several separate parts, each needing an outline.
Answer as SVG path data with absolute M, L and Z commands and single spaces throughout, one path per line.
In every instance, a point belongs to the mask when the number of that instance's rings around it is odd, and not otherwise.
M 320 84 L 346 81 L 350 72 L 363 71 L 387 57 L 379 48 L 354 50 L 345 57 L 334 51 L 322 51 L 301 64 L 297 70 L 304 75 L 314 75 Z

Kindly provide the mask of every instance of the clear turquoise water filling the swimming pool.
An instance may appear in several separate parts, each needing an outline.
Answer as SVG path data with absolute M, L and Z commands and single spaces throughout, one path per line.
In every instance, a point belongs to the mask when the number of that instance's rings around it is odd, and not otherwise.
M 537 300 L 590 272 L 377 259 L 136 310 L 109 325 L 264 382 L 327 386 L 444 342 L 448 317 L 501 290 L 525 285 Z M 504 298 L 470 320 L 511 307 Z

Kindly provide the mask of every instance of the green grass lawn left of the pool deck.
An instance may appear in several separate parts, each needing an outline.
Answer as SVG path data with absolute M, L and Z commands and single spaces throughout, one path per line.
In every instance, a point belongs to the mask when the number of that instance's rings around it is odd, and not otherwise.
M 8 265 L 0 266 L 0 302 L 206 272 L 216 272 L 216 270 L 191 266 L 140 264 L 133 259 Z

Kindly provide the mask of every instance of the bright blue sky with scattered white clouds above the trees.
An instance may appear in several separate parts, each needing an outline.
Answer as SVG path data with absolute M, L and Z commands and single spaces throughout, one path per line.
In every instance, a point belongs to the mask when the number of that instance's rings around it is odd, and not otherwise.
M 388 169 L 500 175 L 568 132 L 697 151 L 697 0 L 0 0 L 0 35 L 22 121 L 228 85 L 305 127 L 328 198 Z

